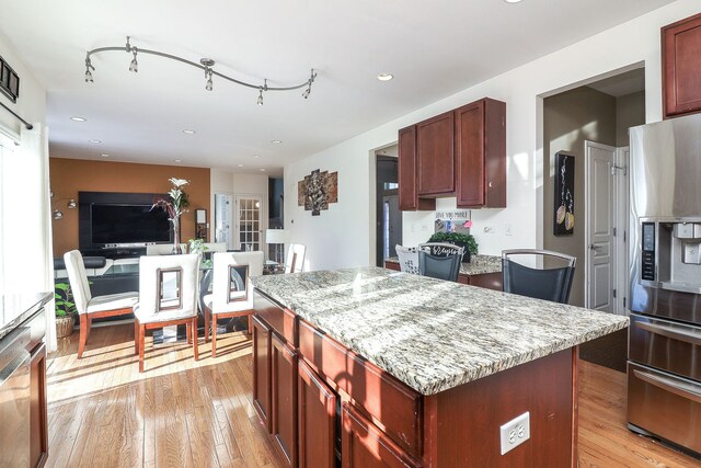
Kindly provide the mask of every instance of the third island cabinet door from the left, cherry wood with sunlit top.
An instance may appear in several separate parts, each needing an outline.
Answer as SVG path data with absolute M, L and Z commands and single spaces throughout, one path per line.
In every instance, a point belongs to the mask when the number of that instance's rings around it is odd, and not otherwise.
M 299 359 L 299 466 L 335 467 L 336 395 Z

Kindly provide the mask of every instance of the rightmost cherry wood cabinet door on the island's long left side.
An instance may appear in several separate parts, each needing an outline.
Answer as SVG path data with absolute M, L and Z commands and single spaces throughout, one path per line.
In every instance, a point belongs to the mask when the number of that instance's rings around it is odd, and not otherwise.
M 382 431 L 347 403 L 343 404 L 341 466 L 343 468 L 418 467 Z

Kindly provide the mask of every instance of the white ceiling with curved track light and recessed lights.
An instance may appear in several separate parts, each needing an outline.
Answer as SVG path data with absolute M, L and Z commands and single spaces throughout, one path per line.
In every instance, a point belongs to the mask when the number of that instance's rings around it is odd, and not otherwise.
M 279 175 L 290 161 L 670 2 L 0 0 L 0 32 L 47 89 L 51 156 Z M 200 70 L 154 56 L 139 56 L 131 73 L 131 56 L 113 52 L 93 57 L 95 82 L 85 83 L 85 52 L 127 35 L 137 47 L 210 57 L 244 80 L 297 84 L 312 67 L 319 78 L 309 100 L 268 92 L 257 106 L 255 90 L 215 77 L 208 92 Z M 378 81 L 384 71 L 394 80 Z

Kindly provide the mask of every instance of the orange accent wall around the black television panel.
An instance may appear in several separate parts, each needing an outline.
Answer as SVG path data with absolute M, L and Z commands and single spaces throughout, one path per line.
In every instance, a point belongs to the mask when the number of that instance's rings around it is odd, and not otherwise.
M 78 202 L 78 192 L 168 193 L 170 178 L 186 179 L 189 212 L 181 218 L 181 241 L 195 237 L 195 209 L 206 209 L 210 220 L 209 169 L 49 158 L 49 173 L 51 210 L 64 213 L 62 219 L 51 222 L 54 256 L 78 249 L 78 208 L 66 207 L 69 198 Z

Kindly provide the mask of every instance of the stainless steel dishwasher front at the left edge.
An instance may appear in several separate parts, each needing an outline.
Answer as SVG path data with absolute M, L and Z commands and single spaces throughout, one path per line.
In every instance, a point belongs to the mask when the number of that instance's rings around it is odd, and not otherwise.
M 30 329 L 0 340 L 0 467 L 30 466 Z

